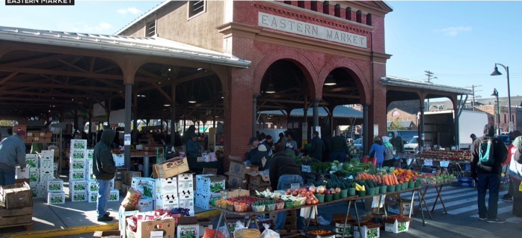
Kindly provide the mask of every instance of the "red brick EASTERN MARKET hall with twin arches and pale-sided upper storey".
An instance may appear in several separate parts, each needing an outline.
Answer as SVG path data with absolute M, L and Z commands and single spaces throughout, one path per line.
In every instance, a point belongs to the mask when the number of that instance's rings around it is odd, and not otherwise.
M 382 1 L 167 1 L 117 34 L 159 36 L 251 61 L 219 78 L 224 136 L 232 139 L 225 155 L 242 155 L 253 134 L 245 128 L 254 130 L 260 110 L 361 104 L 365 131 L 373 134 L 368 125 L 378 124 L 384 134 L 386 89 L 378 81 L 390 57 L 390 11 Z M 320 126 L 316 117 L 310 125 Z

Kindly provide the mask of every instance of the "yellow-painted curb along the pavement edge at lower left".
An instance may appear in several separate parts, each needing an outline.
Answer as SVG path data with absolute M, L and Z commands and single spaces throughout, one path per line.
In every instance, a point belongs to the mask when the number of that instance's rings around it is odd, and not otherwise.
M 208 210 L 204 212 L 199 212 L 195 214 L 196 217 L 199 218 L 208 218 L 212 216 L 217 216 L 220 214 L 220 210 Z M 77 235 L 84 233 L 93 233 L 95 231 L 109 231 L 109 230 L 118 230 L 118 222 L 106 223 L 104 225 L 100 224 L 91 224 L 87 226 L 78 226 L 78 227 L 70 227 L 68 229 L 51 229 L 51 230 L 42 230 L 42 231 L 24 231 L 18 233 L 4 234 L 3 237 L 31 237 L 31 238 L 40 238 L 40 237 L 56 237 L 56 236 L 65 236 L 65 235 Z

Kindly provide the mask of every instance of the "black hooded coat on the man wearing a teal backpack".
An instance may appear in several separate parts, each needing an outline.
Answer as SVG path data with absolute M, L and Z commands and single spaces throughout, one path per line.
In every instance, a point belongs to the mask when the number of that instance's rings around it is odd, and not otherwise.
M 484 126 L 484 136 L 477 138 L 477 140 L 473 141 L 473 150 L 471 152 L 472 160 L 471 160 L 471 174 L 472 177 L 476 177 L 477 173 L 489 173 L 489 174 L 501 174 L 502 166 L 501 164 L 506 161 L 507 158 L 507 149 L 504 143 L 498 139 L 497 137 L 493 137 L 495 135 L 495 128 L 490 124 Z M 492 166 L 485 166 L 479 163 L 479 147 L 480 142 L 484 139 L 492 139 L 493 140 L 493 157 L 495 162 Z

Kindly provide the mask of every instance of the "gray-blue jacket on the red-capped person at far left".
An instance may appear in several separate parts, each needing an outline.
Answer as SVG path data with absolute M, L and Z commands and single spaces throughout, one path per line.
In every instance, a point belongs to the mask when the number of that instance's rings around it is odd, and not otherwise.
M 15 166 L 26 167 L 26 144 L 18 135 L 11 135 L 0 142 L 1 167 L 15 170 Z

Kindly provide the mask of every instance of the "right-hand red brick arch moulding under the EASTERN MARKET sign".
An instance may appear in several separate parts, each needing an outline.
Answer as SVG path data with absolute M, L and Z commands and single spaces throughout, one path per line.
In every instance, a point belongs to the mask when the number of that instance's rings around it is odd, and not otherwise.
M 353 61 L 347 58 L 333 58 L 330 61 L 326 62 L 324 67 L 318 74 L 318 85 L 323 85 L 324 81 L 328 74 L 334 69 L 344 69 L 350 76 L 354 79 L 355 85 L 359 88 L 359 94 L 361 96 L 361 104 L 370 104 L 371 103 L 371 87 L 370 82 L 366 78 L 363 70 L 359 65 L 355 64 Z M 322 97 L 323 95 L 323 87 L 316 87 L 315 95 L 317 97 Z

